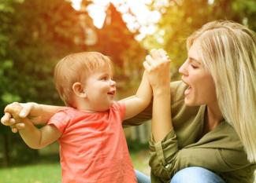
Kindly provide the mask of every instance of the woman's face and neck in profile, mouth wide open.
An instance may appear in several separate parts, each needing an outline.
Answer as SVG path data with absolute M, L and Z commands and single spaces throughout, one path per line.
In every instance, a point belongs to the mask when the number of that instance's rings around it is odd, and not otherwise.
M 185 104 L 189 106 L 217 102 L 213 78 L 202 64 L 202 58 L 198 54 L 200 49 L 198 42 L 195 41 L 188 50 L 187 60 L 179 69 L 182 80 L 187 84 L 184 96 Z

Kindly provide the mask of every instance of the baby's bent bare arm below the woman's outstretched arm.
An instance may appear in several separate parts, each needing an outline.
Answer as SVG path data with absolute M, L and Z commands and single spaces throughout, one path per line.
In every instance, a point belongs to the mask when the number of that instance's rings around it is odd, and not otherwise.
M 46 125 L 38 129 L 29 119 L 22 119 L 24 129 L 19 130 L 20 136 L 30 148 L 43 148 L 61 137 L 56 126 Z

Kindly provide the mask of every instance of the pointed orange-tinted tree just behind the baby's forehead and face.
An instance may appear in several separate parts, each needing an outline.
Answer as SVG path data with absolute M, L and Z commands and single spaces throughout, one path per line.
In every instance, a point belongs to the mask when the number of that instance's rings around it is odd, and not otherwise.
M 121 90 L 131 90 L 134 84 L 136 86 L 141 78 L 146 50 L 135 40 L 135 33 L 128 30 L 121 13 L 112 3 L 106 10 L 102 29 L 98 30 L 97 47 L 112 58 L 117 86 Z

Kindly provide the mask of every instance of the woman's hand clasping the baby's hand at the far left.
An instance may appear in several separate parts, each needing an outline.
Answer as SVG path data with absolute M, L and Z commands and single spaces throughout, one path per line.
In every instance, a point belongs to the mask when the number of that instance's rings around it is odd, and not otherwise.
M 18 130 L 24 129 L 24 123 L 21 119 L 30 117 L 33 123 L 37 123 L 38 118 L 32 118 L 29 114 L 32 112 L 32 108 L 35 108 L 35 103 L 17 103 L 13 102 L 8 104 L 5 108 L 5 115 L 2 116 L 1 123 L 5 126 L 10 126 L 13 133 L 17 133 Z

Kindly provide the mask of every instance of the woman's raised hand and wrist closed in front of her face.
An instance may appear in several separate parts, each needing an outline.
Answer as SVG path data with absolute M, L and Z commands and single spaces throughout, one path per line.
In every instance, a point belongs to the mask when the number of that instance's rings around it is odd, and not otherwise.
M 169 88 L 170 83 L 170 60 L 165 50 L 154 49 L 147 55 L 143 62 L 144 68 L 147 71 L 147 77 L 155 92 L 161 92 L 166 87 Z

